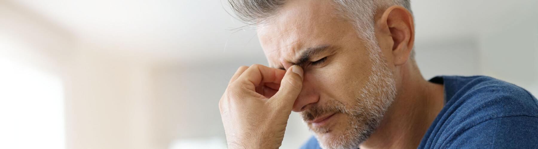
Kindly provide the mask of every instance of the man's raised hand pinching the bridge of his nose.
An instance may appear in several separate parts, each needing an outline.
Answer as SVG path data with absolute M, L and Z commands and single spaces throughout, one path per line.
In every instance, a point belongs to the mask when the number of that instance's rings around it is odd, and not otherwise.
M 228 148 L 278 148 L 301 92 L 303 70 L 242 66 L 219 102 Z

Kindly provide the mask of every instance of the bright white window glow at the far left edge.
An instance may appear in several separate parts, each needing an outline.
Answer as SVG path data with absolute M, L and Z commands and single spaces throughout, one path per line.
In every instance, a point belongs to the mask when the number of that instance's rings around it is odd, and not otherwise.
M 64 115 L 58 77 L 0 55 L 0 148 L 65 148 Z

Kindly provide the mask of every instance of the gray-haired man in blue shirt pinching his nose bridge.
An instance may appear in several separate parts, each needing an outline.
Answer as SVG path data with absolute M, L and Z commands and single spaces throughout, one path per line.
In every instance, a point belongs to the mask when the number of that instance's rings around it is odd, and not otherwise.
M 219 106 L 229 148 L 538 148 L 538 102 L 484 76 L 422 75 L 408 0 L 229 0 L 270 67 L 242 66 Z

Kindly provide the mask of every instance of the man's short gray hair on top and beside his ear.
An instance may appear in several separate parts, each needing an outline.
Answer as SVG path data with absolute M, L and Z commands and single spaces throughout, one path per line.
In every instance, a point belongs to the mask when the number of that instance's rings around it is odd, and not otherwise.
M 374 35 L 374 15 L 378 9 L 387 9 L 399 5 L 411 11 L 409 0 L 332 0 L 337 13 L 344 19 L 349 19 L 366 43 L 377 45 Z M 265 20 L 276 14 L 286 0 L 228 0 L 233 12 L 240 20 L 249 25 L 263 24 Z M 368 46 L 368 45 L 367 45 Z M 410 54 L 414 60 L 415 50 Z

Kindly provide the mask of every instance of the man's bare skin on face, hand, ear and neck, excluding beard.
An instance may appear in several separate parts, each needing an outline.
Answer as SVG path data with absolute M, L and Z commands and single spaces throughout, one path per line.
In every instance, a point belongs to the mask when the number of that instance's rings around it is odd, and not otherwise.
M 360 87 L 374 73 L 372 62 L 353 25 L 330 13 L 334 10 L 329 1 L 289 1 L 267 23 L 258 25 L 260 43 L 272 68 L 242 66 L 232 77 L 219 104 L 229 148 L 278 148 L 292 110 L 303 112 L 334 100 L 349 105 L 357 100 Z M 406 9 L 378 10 L 374 20 L 397 96 L 360 148 L 416 148 L 443 108 L 443 86 L 422 78 L 409 58 L 414 25 Z M 303 51 L 320 45 L 330 48 L 301 66 L 294 65 Z M 324 57 L 323 63 L 312 63 Z M 335 114 L 326 124 L 331 131 L 318 135 L 342 135 L 347 118 Z

